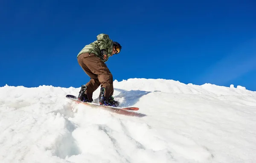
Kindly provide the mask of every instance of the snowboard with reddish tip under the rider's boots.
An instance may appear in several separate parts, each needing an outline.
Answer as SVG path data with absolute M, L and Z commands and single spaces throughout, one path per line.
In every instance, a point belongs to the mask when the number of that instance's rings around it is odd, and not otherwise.
M 73 95 L 67 95 L 66 97 L 71 100 L 77 101 L 78 103 L 83 103 L 83 104 L 87 104 L 87 105 L 94 106 L 94 107 L 107 107 L 107 108 L 111 108 L 111 109 L 115 109 L 115 110 L 132 110 L 132 111 L 139 110 L 138 107 L 112 107 L 112 106 L 105 106 L 105 105 L 100 105 L 100 104 L 96 104 L 96 103 L 92 103 L 92 102 L 83 102 L 83 101 L 79 101 L 78 98 Z

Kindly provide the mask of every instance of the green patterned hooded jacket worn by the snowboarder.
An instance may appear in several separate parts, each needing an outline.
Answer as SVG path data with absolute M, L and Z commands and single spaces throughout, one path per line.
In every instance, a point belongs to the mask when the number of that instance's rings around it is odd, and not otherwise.
M 105 49 L 108 53 L 107 59 L 102 59 L 100 50 Z M 108 34 L 99 34 L 97 36 L 97 40 L 90 43 L 89 45 L 85 45 L 84 48 L 78 53 L 77 58 L 82 53 L 93 53 L 103 62 L 107 62 L 108 58 L 111 56 L 113 51 L 113 41 L 109 38 Z

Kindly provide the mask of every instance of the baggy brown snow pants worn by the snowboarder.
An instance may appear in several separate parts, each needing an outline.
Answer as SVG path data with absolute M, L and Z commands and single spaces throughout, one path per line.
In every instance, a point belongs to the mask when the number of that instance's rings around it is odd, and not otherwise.
M 89 100 L 93 98 L 93 92 L 101 85 L 105 87 L 106 98 L 113 95 L 113 76 L 108 69 L 107 65 L 102 62 L 93 53 L 82 53 L 78 56 L 78 63 L 84 70 L 84 72 L 90 77 L 90 81 L 86 84 L 87 90 L 85 94 Z

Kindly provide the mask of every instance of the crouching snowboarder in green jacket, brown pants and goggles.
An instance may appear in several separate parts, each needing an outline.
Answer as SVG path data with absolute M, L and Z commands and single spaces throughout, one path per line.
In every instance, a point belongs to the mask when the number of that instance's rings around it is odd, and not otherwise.
M 119 105 L 113 98 L 113 76 L 105 62 L 113 54 L 120 53 L 122 46 L 113 42 L 107 34 L 99 34 L 97 40 L 85 45 L 77 55 L 79 65 L 90 77 L 90 81 L 81 86 L 78 99 L 92 102 L 93 92 L 101 85 L 99 104 L 114 106 Z

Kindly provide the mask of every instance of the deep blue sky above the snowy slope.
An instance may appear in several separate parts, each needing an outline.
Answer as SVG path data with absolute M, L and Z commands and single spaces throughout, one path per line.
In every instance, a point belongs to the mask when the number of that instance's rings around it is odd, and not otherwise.
M 118 81 L 256 91 L 255 0 L 1 0 L 0 86 L 80 87 L 76 56 L 100 33 L 122 45 L 106 62 Z

